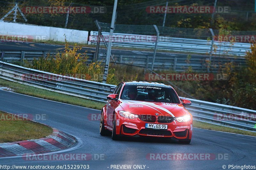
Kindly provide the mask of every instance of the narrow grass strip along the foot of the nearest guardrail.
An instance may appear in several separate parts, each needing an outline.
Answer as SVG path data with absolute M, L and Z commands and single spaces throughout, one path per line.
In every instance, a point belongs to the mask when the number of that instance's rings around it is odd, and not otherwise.
M 51 92 L 48 90 L 38 89 L 35 87 L 21 85 L 19 83 L 7 81 L 4 79 L 0 79 L 0 86 L 12 88 L 17 93 L 27 94 L 30 96 L 35 96 L 35 97 L 48 99 L 48 100 L 60 101 L 63 103 L 73 104 L 73 105 L 77 105 L 77 106 L 94 108 L 94 109 L 98 109 L 98 110 L 101 110 L 101 108 L 104 106 L 104 103 L 102 103 L 102 102 L 95 102 L 95 101 L 91 101 L 91 100 L 82 99 L 79 97 L 69 96 L 66 94 L 60 94 L 57 92 Z M 194 121 L 193 127 L 256 136 L 255 132 L 248 132 L 248 131 L 244 131 L 244 130 L 238 130 L 238 129 L 228 128 L 228 127 L 213 125 L 213 124 L 205 123 L 205 122 Z

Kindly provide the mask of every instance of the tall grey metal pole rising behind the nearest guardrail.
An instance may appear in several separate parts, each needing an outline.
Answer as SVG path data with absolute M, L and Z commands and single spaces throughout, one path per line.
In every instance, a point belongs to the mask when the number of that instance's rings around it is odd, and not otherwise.
M 112 20 L 110 25 L 110 33 L 109 33 L 109 42 L 108 42 L 108 49 L 107 49 L 107 56 L 106 56 L 106 64 L 103 74 L 103 81 L 102 83 L 107 82 L 107 76 L 108 76 L 108 67 L 109 67 L 109 61 L 110 61 L 110 53 L 111 53 L 111 45 L 112 45 L 112 37 L 114 33 L 114 27 L 115 27 L 115 19 L 116 19 L 116 8 L 117 8 L 117 1 L 114 2 L 114 8 L 113 8 L 113 14 L 112 14 Z

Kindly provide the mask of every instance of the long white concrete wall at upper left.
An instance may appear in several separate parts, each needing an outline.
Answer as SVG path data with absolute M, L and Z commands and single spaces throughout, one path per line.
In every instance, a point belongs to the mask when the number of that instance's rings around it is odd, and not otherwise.
M 27 35 L 28 37 L 32 37 L 37 41 L 43 39 L 65 42 L 65 34 L 68 42 L 87 44 L 88 33 L 88 31 L 66 28 L 0 22 L 0 35 Z

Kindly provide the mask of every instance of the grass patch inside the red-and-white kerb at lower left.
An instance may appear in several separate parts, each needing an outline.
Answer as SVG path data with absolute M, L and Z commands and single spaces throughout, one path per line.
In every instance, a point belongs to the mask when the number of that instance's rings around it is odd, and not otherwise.
M 39 139 L 52 134 L 52 128 L 29 120 L 22 120 L 17 115 L 0 111 L 0 143 L 28 139 Z

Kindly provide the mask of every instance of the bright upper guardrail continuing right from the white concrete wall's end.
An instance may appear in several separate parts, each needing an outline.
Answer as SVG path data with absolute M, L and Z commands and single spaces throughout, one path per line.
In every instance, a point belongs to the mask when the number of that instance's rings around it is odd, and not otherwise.
M 109 33 L 101 32 L 105 39 L 108 39 Z M 113 37 L 117 37 L 118 42 L 112 42 L 113 46 L 128 47 L 128 48 L 155 48 L 155 42 L 129 42 L 127 37 L 141 37 L 146 35 L 137 34 L 125 34 L 125 33 L 114 33 Z M 152 40 L 156 39 L 156 36 L 150 36 Z M 90 32 L 89 43 L 96 44 L 98 38 L 97 31 Z M 200 40 L 200 39 L 188 39 L 188 38 L 174 38 L 160 36 L 157 44 L 158 50 L 169 50 L 179 52 L 192 52 L 199 54 L 210 54 L 212 51 L 213 55 L 230 55 L 230 56 L 245 56 L 246 51 L 251 51 L 250 43 L 230 43 L 230 42 L 219 42 L 214 41 L 212 46 L 212 40 Z M 212 49 L 213 48 L 213 49 Z

